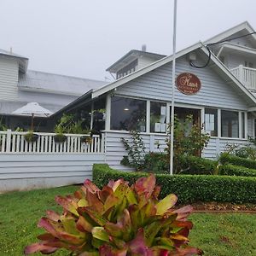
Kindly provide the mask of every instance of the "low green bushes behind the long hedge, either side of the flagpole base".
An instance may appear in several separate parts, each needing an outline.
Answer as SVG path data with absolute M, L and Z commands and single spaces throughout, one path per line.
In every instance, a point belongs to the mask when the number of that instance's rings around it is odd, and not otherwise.
M 145 172 L 169 173 L 169 155 L 164 153 L 148 153 L 145 155 Z M 179 174 L 213 174 L 217 161 L 208 160 L 193 155 L 179 155 L 177 162 Z M 174 166 L 175 168 L 175 166 Z

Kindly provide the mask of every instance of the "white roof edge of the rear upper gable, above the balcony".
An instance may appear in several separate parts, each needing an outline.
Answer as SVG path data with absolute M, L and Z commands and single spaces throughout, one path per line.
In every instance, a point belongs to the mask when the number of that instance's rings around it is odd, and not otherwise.
M 225 38 L 229 38 L 232 35 L 236 34 L 237 32 L 242 32 L 243 30 L 246 30 L 247 33 L 252 33 L 254 32 L 253 30 L 253 26 L 251 26 L 247 21 L 242 22 L 241 24 L 237 25 L 237 26 L 233 26 L 230 29 L 219 33 L 218 35 L 207 39 L 206 41 L 204 41 L 203 44 L 212 44 L 212 43 L 216 43 L 218 41 L 222 41 Z M 251 35 L 251 37 L 253 37 L 256 41 L 256 34 Z

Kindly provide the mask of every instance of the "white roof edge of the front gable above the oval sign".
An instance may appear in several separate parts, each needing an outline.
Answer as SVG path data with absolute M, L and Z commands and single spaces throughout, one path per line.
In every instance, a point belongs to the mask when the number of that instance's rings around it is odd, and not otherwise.
M 207 48 L 201 42 L 199 42 L 197 44 L 194 44 L 186 49 L 183 49 L 183 50 L 177 52 L 176 58 L 186 55 L 189 52 L 194 51 L 195 49 L 202 49 L 203 53 L 205 55 L 208 55 Z M 125 77 L 118 79 L 111 84 L 103 86 L 102 88 L 99 88 L 98 90 L 94 90 L 92 92 L 92 98 L 96 98 L 97 96 L 102 96 L 103 94 L 107 93 L 110 90 L 115 90 L 122 84 L 130 82 L 133 79 L 137 79 L 138 77 L 142 76 L 145 73 L 148 73 L 158 67 L 161 67 L 163 65 L 166 65 L 169 62 L 172 62 L 172 60 L 173 60 L 173 55 L 167 56 L 167 57 L 161 59 L 160 61 L 156 61 L 153 64 L 148 65 L 147 67 L 143 67 L 142 69 L 139 69 L 138 71 L 136 71 L 134 73 L 126 75 Z M 233 82 L 234 86 L 236 87 L 236 90 L 239 90 L 242 93 L 242 95 L 247 98 L 247 101 L 250 101 L 251 103 L 256 104 L 256 98 L 253 96 L 253 94 L 249 90 L 247 90 L 241 84 L 241 82 L 238 79 L 236 79 L 236 77 L 234 75 L 232 75 L 230 73 L 229 69 L 227 67 L 225 67 L 224 64 L 221 61 L 219 61 L 217 57 L 212 55 L 211 61 L 214 64 L 216 64 L 216 66 L 219 68 L 219 70 L 222 73 L 224 73 L 224 75 L 226 77 L 228 77 Z

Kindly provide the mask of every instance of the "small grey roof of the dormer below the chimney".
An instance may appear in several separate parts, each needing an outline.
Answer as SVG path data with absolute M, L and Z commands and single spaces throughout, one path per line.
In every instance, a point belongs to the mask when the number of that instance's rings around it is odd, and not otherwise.
M 108 67 L 106 71 L 109 71 L 111 73 L 116 73 L 120 67 L 123 67 L 127 63 L 134 61 L 138 56 L 147 56 L 150 58 L 154 58 L 156 61 L 166 57 L 166 55 L 155 54 L 152 52 L 138 50 L 138 49 L 131 49 L 126 55 L 124 55 L 118 61 L 115 61 L 113 65 Z

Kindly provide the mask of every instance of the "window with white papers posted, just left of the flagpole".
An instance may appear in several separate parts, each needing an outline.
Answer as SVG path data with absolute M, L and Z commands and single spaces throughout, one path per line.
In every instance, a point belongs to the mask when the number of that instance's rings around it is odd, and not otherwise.
M 150 102 L 150 132 L 166 132 L 166 103 Z

